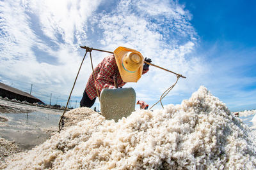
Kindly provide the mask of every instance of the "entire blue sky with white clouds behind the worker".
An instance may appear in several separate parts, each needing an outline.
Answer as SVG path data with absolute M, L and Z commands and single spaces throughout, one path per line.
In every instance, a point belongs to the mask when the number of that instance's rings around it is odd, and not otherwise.
M 85 53 L 80 45 L 112 52 L 126 46 L 187 77 L 163 104 L 179 104 L 204 85 L 231 111 L 253 110 L 255 8 L 255 1 L 243 0 L 1 0 L 0 81 L 26 92 L 32 84 L 33 96 L 65 105 Z M 93 66 L 106 55 L 93 51 Z M 91 73 L 87 55 L 72 106 L 78 106 Z M 150 66 L 138 83 L 125 87 L 152 105 L 175 80 Z

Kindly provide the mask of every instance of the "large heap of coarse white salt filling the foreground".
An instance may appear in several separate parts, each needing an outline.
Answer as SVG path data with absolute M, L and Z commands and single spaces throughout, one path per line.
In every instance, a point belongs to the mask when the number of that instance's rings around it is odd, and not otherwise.
M 224 103 L 200 87 L 164 110 L 115 123 L 98 113 L 67 127 L 6 169 L 256 169 L 255 138 Z M 74 111 L 74 110 L 72 110 Z M 72 111 L 68 114 L 72 114 Z

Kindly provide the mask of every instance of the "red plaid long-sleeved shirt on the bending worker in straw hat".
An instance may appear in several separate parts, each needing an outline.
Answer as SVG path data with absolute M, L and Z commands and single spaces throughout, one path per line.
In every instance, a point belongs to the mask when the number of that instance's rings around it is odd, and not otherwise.
M 142 74 L 148 72 L 143 70 Z M 116 82 L 118 87 L 123 87 L 126 83 L 122 80 L 121 75 L 118 71 L 116 65 L 116 60 L 114 55 L 109 55 L 105 57 L 100 64 L 94 69 L 95 81 L 93 79 L 93 73 L 86 84 L 86 94 L 92 100 L 97 96 L 96 88 L 100 94 L 102 89 L 113 89 L 115 88 L 113 77 L 116 75 Z

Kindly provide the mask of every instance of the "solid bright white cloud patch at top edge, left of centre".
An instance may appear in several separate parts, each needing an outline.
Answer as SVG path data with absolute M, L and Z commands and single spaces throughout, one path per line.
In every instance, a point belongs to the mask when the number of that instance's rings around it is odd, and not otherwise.
M 56 43 L 61 38 L 68 45 L 76 45 L 85 41 L 86 22 L 100 1 L 46 0 L 24 3 L 39 18 L 40 27 L 47 37 Z

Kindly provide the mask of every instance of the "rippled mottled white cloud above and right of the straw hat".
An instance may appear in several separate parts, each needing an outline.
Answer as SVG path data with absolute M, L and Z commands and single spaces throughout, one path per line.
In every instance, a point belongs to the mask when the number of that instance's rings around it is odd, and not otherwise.
M 188 59 L 197 43 L 197 34 L 189 23 L 191 15 L 183 9 L 184 6 L 172 1 L 120 1 L 113 13 L 95 17 L 99 21 L 95 22 L 95 27 L 102 28 L 103 48 L 134 48 L 158 66 L 184 76 L 193 75 L 194 79 L 187 78 L 181 85 L 182 80 L 179 80 L 173 89 L 190 91 L 191 85 L 193 89 L 199 87 L 193 80 L 202 74 L 204 67 L 200 59 Z M 150 71 L 138 83 L 127 86 L 134 87 L 141 99 L 156 101 L 175 79 L 174 74 L 150 66 Z

